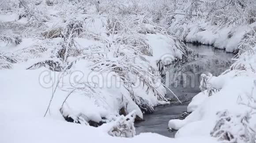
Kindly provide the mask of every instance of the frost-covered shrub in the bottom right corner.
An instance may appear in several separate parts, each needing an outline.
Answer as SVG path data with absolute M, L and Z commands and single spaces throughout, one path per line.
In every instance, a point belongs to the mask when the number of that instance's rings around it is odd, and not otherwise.
M 256 129 L 255 129 L 255 87 L 250 93 L 245 93 L 246 98 L 241 96 L 237 100 L 237 104 L 242 104 L 248 107 L 248 111 L 244 114 L 234 115 L 229 111 L 218 112 L 218 121 L 211 132 L 211 136 L 216 137 L 223 143 L 255 143 L 256 142 Z

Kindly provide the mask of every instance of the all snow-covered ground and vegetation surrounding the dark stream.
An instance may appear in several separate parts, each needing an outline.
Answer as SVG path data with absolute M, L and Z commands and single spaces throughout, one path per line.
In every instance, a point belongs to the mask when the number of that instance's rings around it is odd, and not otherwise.
M 209 19 L 214 0 L 0 1 L 0 142 L 252 142 L 255 2 L 233 1 Z M 187 56 L 182 40 L 238 48 L 239 59 L 203 75 L 192 113 L 169 121 L 177 139 L 135 136 L 133 120 L 169 104 L 161 75 Z

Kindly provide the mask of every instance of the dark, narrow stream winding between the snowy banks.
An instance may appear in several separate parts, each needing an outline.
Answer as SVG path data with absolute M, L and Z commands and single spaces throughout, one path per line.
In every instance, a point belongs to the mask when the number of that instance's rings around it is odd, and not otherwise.
M 170 119 L 181 117 L 181 113 L 187 111 L 187 106 L 192 97 L 200 93 L 200 75 L 211 73 L 220 75 L 232 64 L 233 54 L 224 50 L 215 49 L 213 46 L 195 46 L 187 44 L 192 49 L 194 58 L 190 62 L 181 65 L 171 65 L 166 69 L 164 82 L 182 101 L 172 101 L 170 105 L 158 106 L 153 114 L 145 114 L 144 122 L 135 123 L 136 133 L 155 132 L 167 137 L 173 137 L 175 132 L 169 131 Z M 167 98 L 173 98 L 173 94 L 167 91 Z

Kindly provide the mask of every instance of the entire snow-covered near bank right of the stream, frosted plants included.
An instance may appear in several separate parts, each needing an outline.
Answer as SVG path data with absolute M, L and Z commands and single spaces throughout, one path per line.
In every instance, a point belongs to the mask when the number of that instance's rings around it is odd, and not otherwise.
M 244 57 L 247 57 L 246 60 Z M 178 130 L 175 138 L 217 136 L 222 140 L 224 138 L 218 134 L 215 135 L 215 132 L 218 131 L 216 130 L 219 127 L 218 122 L 223 122 L 222 118 L 224 117 L 230 118 L 232 121 L 230 123 L 232 125 L 227 123 L 226 129 L 226 132 L 233 136 L 232 138 L 240 139 L 240 141 L 246 138 L 241 137 L 247 134 L 244 131 L 247 126 L 243 124 L 243 118 L 249 118 L 250 121 L 255 120 L 255 116 L 252 116 L 252 112 L 255 111 L 255 103 L 252 99 L 256 98 L 255 58 L 255 55 L 248 57 L 248 54 L 245 53 L 231 66 L 230 70 L 222 75 L 207 76 L 207 87 L 219 89 L 219 91 L 215 90 L 215 93 L 209 97 L 209 90 L 197 94 L 188 105 L 188 112 L 192 112 L 191 114 L 184 120 L 169 121 L 169 128 Z M 248 117 L 248 114 L 251 115 Z M 220 127 L 222 125 L 226 124 L 222 123 Z M 254 122 L 248 122 L 248 126 L 252 129 L 255 128 L 255 125 Z

